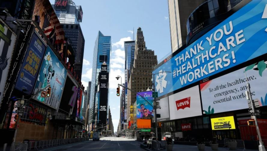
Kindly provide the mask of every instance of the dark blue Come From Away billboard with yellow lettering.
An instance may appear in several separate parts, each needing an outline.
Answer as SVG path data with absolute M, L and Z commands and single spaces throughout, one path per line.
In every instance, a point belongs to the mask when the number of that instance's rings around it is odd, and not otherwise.
M 24 58 L 22 67 L 19 72 L 15 88 L 22 91 L 26 89 L 27 94 L 32 93 L 35 80 L 38 76 L 41 67 L 42 59 L 44 56 L 46 45 L 36 34 L 32 34 L 26 56 Z

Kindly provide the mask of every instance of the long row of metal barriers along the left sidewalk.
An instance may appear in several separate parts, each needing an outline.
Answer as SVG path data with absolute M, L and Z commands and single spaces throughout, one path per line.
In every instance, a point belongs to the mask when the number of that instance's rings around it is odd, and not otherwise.
M 69 143 L 77 143 L 85 141 L 86 138 L 66 138 L 66 139 L 54 139 L 54 140 L 39 140 L 39 141 L 29 141 L 27 143 L 14 142 L 11 145 L 11 151 L 27 151 L 27 150 L 39 150 L 44 148 L 49 148 L 53 146 L 60 146 Z

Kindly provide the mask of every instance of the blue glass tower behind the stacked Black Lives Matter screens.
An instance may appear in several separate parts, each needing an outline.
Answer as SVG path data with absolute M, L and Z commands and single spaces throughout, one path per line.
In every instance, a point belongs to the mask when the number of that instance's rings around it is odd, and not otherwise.
M 92 71 L 92 83 L 90 94 L 90 108 L 89 108 L 89 123 L 92 128 L 95 124 L 95 120 L 98 120 L 98 104 L 99 104 L 99 72 L 101 72 L 101 66 L 105 62 L 106 72 L 110 71 L 110 52 L 111 52 L 111 36 L 104 36 L 100 31 L 98 32 L 94 53 L 93 53 L 93 71 Z M 108 93 L 108 91 L 107 91 Z M 99 123 L 99 121 L 97 121 Z M 102 121 L 103 122 L 103 121 Z

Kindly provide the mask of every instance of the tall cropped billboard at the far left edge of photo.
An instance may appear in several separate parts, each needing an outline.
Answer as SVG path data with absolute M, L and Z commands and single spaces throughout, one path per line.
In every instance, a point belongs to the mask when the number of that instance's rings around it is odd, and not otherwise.
M 14 44 L 16 40 L 15 33 L 7 25 L 0 22 L 0 103 L 5 88 L 5 82 L 8 76 L 8 68 L 11 62 Z M 13 69 L 10 67 L 11 70 Z

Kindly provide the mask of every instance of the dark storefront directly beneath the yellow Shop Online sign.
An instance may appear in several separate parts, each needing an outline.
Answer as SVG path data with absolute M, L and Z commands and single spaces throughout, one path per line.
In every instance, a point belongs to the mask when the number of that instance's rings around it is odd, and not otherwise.
M 212 131 L 212 132 L 213 132 L 213 137 L 216 137 L 218 140 L 224 140 L 225 138 L 237 139 L 237 134 L 235 130 Z

